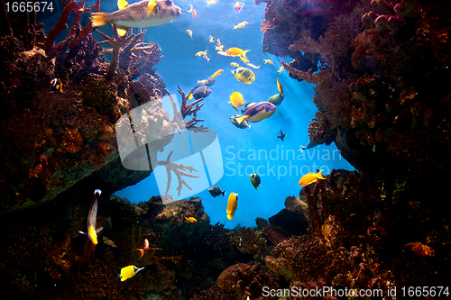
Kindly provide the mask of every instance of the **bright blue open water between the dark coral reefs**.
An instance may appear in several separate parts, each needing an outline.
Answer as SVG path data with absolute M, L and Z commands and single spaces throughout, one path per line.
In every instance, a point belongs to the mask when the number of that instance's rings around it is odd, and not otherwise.
M 187 13 L 189 3 L 197 10 L 197 19 Z M 264 4 L 254 5 L 253 0 L 244 1 L 241 13 L 234 9 L 235 1 L 219 0 L 216 4 L 207 5 L 206 1 L 176 0 L 174 4 L 181 8 L 182 14 L 173 23 L 147 28 L 145 36 L 145 41 L 156 42 L 161 46 L 164 58 L 155 68 L 166 88 L 171 94 L 177 94 L 179 85 L 188 93 L 191 87 L 198 85 L 198 80 L 206 79 L 219 68 L 224 69 L 224 73 L 216 77 L 216 84 L 210 86 L 213 92 L 204 100 L 205 105 L 198 113 L 198 118 L 205 119 L 201 124 L 216 131 L 224 163 L 224 176 L 216 185 L 226 190 L 226 196 L 213 198 L 207 189 L 192 195 L 202 198 L 211 223 L 225 223 L 226 228 L 234 228 L 238 223 L 255 226 L 256 217 L 269 218 L 277 214 L 284 208 L 287 196 L 299 195 L 298 182 L 302 175 L 317 168 L 323 169 L 324 174 L 332 168 L 354 169 L 341 158 L 335 145 L 318 146 L 304 154 L 300 153 L 299 145 L 308 144 L 308 123 L 317 110 L 312 102 L 313 86 L 297 82 L 285 70 L 278 73 L 281 58 L 262 52 L 260 24 L 264 19 Z M 113 12 L 116 7 L 115 1 L 101 3 L 103 12 Z M 244 21 L 248 22 L 244 28 L 234 30 L 234 25 Z M 102 27 L 101 30 L 107 32 L 109 27 Z M 187 30 L 193 32 L 192 40 Z M 208 41 L 210 35 L 214 37 L 215 43 Z M 254 65 L 261 66 L 252 68 L 256 78 L 253 84 L 247 86 L 235 80 L 231 73 L 235 67 L 230 66 L 230 63 L 246 66 L 239 58 L 216 54 L 216 39 L 225 45 L 224 50 L 230 47 L 251 50 L 247 53 L 248 59 Z M 208 58 L 211 59 L 209 62 L 203 57 L 194 56 L 203 50 L 207 50 Z M 263 64 L 262 59 L 272 59 L 274 65 Z M 283 60 L 290 62 L 291 59 Z M 242 93 L 246 103 L 266 101 L 278 93 L 277 77 L 281 80 L 285 98 L 272 117 L 252 123 L 250 129 L 238 129 L 230 123 L 229 117 L 235 114 L 235 110 L 227 102 L 233 92 Z M 280 130 L 288 134 L 283 142 L 276 138 Z M 166 159 L 166 155 L 159 156 L 159 159 Z M 256 173 L 257 168 L 262 178 L 258 190 L 253 188 L 249 178 L 249 174 Z M 185 180 L 196 189 L 196 178 Z M 171 186 L 177 186 L 175 176 Z M 186 190 L 186 187 L 183 189 Z M 239 195 L 238 208 L 234 219 L 228 220 L 226 206 L 231 192 Z M 135 186 L 115 193 L 134 203 L 147 201 L 152 195 L 159 194 L 154 174 Z

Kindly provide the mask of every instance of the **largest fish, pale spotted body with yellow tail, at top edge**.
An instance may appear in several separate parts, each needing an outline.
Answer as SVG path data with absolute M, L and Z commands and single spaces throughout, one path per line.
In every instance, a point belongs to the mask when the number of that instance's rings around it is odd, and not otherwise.
M 128 5 L 125 0 L 118 0 L 118 11 L 114 13 L 94 13 L 89 20 L 93 27 L 114 23 L 120 36 L 127 33 L 129 27 L 152 27 L 174 21 L 180 14 L 180 8 L 170 0 L 143 0 Z

